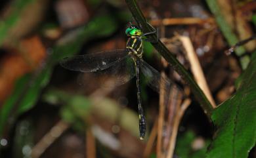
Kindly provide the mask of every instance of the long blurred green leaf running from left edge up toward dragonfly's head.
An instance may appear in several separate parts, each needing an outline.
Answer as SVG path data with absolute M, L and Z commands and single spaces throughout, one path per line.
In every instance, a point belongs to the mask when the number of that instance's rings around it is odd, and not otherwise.
M 111 16 L 99 16 L 91 20 L 86 26 L 79 28 L 74 39 L 63 45 L 53 47 L 53 52 L 48 56 L 48 60 L 40 73 L 26 75 L 21 81 L 18 81 L 13 94 L 3 104 L 0 110 L 0 136 L 3 134 L 3 129 L 10 116 L 12 118 L 9 123 L 12 124 L 18 115 L 28 111 L 36 104 L 41 90 L 47 86 L 51 79 L 54 66 L 58 64 L 61 58 L 77 53 L 87 40 L 111 35 L 116 29 L 117 24 Z

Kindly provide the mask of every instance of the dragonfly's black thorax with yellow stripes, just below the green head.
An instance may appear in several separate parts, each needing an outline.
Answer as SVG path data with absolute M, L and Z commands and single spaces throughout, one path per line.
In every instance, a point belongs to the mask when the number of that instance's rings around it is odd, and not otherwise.
M 140 36 L 131 36 L 126 43 L 126 49 L 142 58 L 142 39 Z

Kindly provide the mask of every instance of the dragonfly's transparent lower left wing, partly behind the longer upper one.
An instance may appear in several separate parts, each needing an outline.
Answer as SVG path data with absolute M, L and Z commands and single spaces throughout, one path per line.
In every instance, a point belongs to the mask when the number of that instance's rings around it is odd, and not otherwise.
M 135 64 L 131 56 L 126 55 L 102 71 L 90 74 L 81 73 L 77 79 L 78 83 L 80 85 L 89 84 L 91 81 L 88 81 L 88 75 L 93 75 L 95 77 L 94 81 L 98 82 L 102 87 L 116 87 L 127 83 L 135 76 Z

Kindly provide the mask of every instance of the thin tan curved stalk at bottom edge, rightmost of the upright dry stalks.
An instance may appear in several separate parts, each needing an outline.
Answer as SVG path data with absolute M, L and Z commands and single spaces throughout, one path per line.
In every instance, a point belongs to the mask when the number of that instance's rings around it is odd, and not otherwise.
M 186 111 L 186 108 L 190 105 L 191 100 L 186 99 L 184 100 L 183 104 L 181 105 L 181 108 L 177 108 L 177 115 L 175 115 L 174 123 L 173 123 L 173 131 L 171 133 L 171 138 L 169 140 L 169 149 L 167 151 L 167 158 L 172 158 L 174 149 L 175 149 L 175 144 L 176 144 L 176 138 L 177 138 L 177 133 L 179 129 L 179 123 L 181 122 L 181 118 L 184 114 L 184 111 Z

